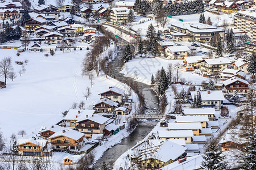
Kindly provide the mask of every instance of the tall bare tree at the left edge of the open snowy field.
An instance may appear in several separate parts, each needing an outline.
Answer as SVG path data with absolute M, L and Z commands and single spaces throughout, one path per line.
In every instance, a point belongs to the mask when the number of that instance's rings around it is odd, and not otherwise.
M 0 76 L 5 77 L 5 85 L 6 85 L 6 79 L 9 78 L 12 72 L 13 72 L 13 66 L 11 65 L 11 57 L 3 58 L 0 61 Z

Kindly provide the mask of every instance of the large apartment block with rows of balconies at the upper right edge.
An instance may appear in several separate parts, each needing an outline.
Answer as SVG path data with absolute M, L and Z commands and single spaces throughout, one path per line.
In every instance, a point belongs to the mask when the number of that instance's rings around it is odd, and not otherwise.
M 234 15 L 234 25 L 237 29 L 246 31 L 256 40 L 256 12 L 255 11 L 238 11 Z

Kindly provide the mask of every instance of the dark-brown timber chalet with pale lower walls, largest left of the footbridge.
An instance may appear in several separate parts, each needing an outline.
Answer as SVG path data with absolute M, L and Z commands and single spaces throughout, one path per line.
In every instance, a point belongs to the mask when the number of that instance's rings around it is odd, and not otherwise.
M 103 134 L 106 122 L 109 118 L 94 114 L 91 117 L 76 121 L 76 129 L 85 134 L 85 137 L 92 138 L 92 134 Z

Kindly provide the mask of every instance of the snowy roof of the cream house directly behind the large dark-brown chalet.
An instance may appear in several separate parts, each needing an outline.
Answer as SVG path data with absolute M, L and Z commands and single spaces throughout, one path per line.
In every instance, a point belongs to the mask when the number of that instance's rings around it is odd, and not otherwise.
M 84 120 L 87 117 L 91 117 L 94 113 L 94 110 L 70 109 L 64 120 Z

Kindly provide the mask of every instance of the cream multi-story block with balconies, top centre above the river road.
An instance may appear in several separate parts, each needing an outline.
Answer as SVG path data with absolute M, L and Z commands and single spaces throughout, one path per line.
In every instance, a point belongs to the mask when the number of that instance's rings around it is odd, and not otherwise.
M 128 19 L 129 9 L 126 7 L 112 8 L 110 11 L 110 22 L 123 23 Z

